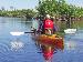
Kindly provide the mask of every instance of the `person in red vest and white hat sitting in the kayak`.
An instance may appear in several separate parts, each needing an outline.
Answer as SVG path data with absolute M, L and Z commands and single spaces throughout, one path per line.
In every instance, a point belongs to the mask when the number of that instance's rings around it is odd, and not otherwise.
M 42 33 L 51 34 L 53 33 L 53 20 L 51 20 L 49 14 L 46 14 L 45 19 L 40 23 L 40 29 L 42 30 Z

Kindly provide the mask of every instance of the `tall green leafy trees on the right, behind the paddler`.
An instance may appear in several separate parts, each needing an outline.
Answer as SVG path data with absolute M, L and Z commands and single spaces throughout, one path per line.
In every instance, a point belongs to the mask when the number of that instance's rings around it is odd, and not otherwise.
M 39 0 L 37 8 L 40 14 L 82 17 L 83 8 L 69 6 L 65 0 Z

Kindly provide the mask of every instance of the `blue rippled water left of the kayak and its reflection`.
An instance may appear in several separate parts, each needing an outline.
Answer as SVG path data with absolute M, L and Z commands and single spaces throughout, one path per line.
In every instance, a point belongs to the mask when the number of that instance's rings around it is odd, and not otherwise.
M 12 31 L 30 31 L 30 27 L 31 22 L 20 18 L 0 18 L 0 62 L 43 62 L 30 33 L 10 34 Z

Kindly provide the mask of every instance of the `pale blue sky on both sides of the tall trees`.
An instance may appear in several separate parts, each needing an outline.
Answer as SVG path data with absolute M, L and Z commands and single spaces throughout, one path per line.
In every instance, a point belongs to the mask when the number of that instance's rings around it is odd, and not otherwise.
M 10 7 L 15 9 L 34 9 L 39 0 L 0 0 L 0 9 L 10 10 Z M 66 3 L 83 7 L 83 0 L 66 0 Z

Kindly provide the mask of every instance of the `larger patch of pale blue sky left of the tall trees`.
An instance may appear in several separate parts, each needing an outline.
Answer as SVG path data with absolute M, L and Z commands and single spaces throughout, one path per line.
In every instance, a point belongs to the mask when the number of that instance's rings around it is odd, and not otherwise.
M 0 0 L 0 8 L 4 7 L 10 10 L 10 7 L 15 9 L 34 9 L 38 0 Z

